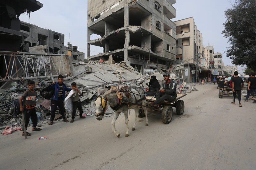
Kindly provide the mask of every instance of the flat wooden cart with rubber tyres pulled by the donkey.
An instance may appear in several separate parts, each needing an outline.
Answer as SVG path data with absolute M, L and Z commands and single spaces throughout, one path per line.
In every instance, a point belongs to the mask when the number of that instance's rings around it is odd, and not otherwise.
M 171 122 L 172 114 L 173 114 L 172 107 L 176 108 L 177 115 L 182 115 L 184 113 L 184 108 L 185 108 L 184 101 L 179 99 L 186 95 L 187 95 L 186 93 L 177 93 L 177 97 L 175 101 L 173 102 L 163 101 L 159 103 L 159 108 L 150 105 L 151 102 L 154 102 L 156 100 L 155 97 L 152 98 L 150 96 L 147 96 L 147 104 L 145 107 L 147 108 L 148 111 L 161 113 L 163 123 L 169 124 Z M 140 106 L 143 107 L 142 105 Z M 161 108 L 163 109 L 160 110 Z M 143 109 L 140 109 L 140 112 L 142 111 Z

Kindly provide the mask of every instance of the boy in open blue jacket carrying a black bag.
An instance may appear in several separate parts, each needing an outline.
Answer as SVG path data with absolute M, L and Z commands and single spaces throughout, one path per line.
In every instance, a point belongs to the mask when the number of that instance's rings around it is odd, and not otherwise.
M 64 122 L 68 122 L 68 120 L 65 118 L 65 109 L 63 105 L 63 101 L 65 100 L 65 92 L 71 91 L 71 88 L 67 88 L 66 85 L 63 83 L 64 76 L 59 75 L 58 76 L 58 82 L 53 82 L 53 84 L 49 87 L 49 90 L 55 89 L 54 93 L 52 95 L 52 101 L 51 101 L 51 121 L 49 122 L 49 125 L 53 124 L 53 120 L 55 117 L 55 112 L 57 109 L 57 106 L 60 108 L 60 112 L 62 115 L 62 118 Z

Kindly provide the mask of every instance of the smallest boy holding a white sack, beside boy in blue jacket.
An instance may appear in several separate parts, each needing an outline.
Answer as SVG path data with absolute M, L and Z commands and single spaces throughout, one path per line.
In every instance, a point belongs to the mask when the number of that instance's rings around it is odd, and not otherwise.
M 71 88 L 72 88 L 71 92 L 65 98 L 65 109 L 69 113 L 72 113 L 72 117 L 71 117 L 72 120 L 70 121 L 70 123 L 73 123 L 76 115 L 76 109 L 79 109 L 80 119 L 83 119 L 85 117 L 82 116 L 83 109 L 82 109 L 82 105 L 79 97 L 79 94 L 82 94 L 82 93 L 76 87 L 75 82 L 71 83 Z

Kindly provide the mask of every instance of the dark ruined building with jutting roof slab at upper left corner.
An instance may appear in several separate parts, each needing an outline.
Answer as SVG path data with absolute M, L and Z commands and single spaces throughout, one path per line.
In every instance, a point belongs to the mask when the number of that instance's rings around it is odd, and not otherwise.
M 7 65 L 13 62 L 11 57 L 1 56 L 2 52 L 16 52 L 21 48 L 25 48 L 24 39 L 29 37 L 28 34 L 20 30 L 20 14 L 24 12 L 31 14 L 43 7 L 43 4 L 36 0 L 2 0 L 0 1 L 0 76 L 6 77 L 6 74 L 11 74 L 12 69 L 7 71 Z M 15 61 L 16 62 L 16 61 Z M 20 64 L 16 65 L 18 68 Z M 1 78 L 0 77 L 0 78 Z M 1 78 L 2 79 L 2 78 Z M 1 86 L 1 83 L 0 83 Z

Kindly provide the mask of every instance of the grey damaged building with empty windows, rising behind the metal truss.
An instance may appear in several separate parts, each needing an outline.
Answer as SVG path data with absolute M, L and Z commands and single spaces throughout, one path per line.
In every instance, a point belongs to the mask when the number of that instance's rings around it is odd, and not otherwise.
M 24 40 L 29 47 L 47 45 L 47 53 L 64 54 L 64 34 L 23 21 L 20 21 L 20 31 L 29 35 Z

